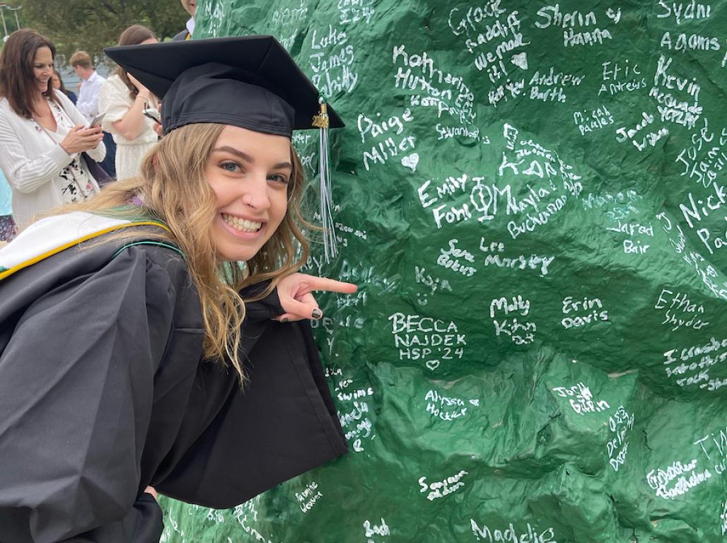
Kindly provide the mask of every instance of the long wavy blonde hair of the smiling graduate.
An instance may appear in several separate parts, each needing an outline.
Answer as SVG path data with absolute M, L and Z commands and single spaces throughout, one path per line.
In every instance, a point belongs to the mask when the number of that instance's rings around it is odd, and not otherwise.
M 172 130 L 145 156 L 140 177 L 113 182 L 89 201 L 65 206 L 61 211 L 134 219 L 142 215 L 164 222 L 171 232 L 160 229 L 150 237 L 170 241 L 185 254 L 204 317 L 204 356 L 220 361 L 228 359 L 244 382 L 238 353 L 245 305 L 238 291 L 270 280 L 267 289 L 253 298 L 260 299 L 273 291 L 281 278 L 299 270 L 309 254 L 301 227 L 311 228 L 311 225 L 301 214 L 305 178 L 300 158 L 291 146 L 293 169 L 288 208 L 281 225 L 244 265 L 220 259 L 212 239 L 217 202 L 205 180 L 204 169 L 224 128 L 224 124 L 188 124 Z M 130 209 L 129 201 L 134 196 L 143 205 Z M 124 230 L 105 239 L 138 238 L 138 233 Z

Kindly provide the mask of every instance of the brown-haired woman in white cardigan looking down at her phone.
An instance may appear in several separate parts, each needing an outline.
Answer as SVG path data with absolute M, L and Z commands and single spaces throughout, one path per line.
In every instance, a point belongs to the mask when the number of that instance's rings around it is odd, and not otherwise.
M 0 169 L 20 229 L 36 214 L 99 191 L 81 153 L 103 160 L 103 133 L 87 127 L 71 100 L 53 89 L 54 60 L 51 41 L 25 28 L 13 32 L 0 53 Z

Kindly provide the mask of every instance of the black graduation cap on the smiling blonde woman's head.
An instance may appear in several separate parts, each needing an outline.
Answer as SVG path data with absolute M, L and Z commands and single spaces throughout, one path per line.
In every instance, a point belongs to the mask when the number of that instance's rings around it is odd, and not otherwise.
M 159 97 L 164 133 L 221 123 L 292 136 L 311 129 L 318 89 L 273 36 L 108 47 L 106 55 Z M 327 107 L 329 126 L 344 126 Z

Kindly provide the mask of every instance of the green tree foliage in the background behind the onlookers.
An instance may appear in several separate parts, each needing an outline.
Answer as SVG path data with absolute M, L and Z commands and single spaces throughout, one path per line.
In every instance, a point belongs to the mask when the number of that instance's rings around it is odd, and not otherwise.
M 179 0 L 12 0 L 30 28 L 53 41 L 61 55 L 84 49 L 103 60 L 124 28 L 148 26 L 160 41 L 182 31 L 189 15 Z

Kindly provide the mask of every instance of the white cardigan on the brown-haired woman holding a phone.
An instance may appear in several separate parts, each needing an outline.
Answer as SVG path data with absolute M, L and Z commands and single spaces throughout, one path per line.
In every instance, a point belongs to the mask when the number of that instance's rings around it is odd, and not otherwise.
M 87 124 L 63 92 L 55 95 L 73 124 Z M 105 145 L 100 142 L 87 153 L 95 161 L 102 161 Z M 48 134 L 38 132 L 31 119 L 18 116 L 7 98 L 0 100 L 0 169 L 12 189 L 12 215 L 18 227 L 25 228 L 35 214 L 63 204 L 57 180 L 63 168 L 78 156 L 68 155 Z M 82 160 L 81 167 L 86 169 Z

